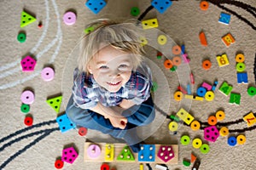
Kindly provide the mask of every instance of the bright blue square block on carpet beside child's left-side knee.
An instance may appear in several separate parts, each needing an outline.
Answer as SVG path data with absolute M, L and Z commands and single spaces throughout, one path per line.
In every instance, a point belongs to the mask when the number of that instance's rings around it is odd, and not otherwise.
M 58 116 L 56 122 L 59 124 L 61 133 L 65 133 L 68 130 L 74 129 L 76 126 L 69 120 L 67 114 Z

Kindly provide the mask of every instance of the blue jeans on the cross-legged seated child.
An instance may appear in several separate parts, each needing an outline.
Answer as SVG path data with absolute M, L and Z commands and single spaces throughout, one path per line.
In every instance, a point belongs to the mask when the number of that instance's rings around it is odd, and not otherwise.
M 127 124 L 124 130 L 113 127 L 108 119 L 105 119 L 104 116 L 94 111 L 84 110 L 75 106 L 73 95 L 67 103 L 66 113 L 77 127 L 95 129 L 102 133 L 110 134 L 114 138 L 125 139 L 128 144 L 136 143 L 137 137 L 134 136 L 136 135 L 136 127 L 148 125 L 150 122 L 153 122 L 155 116 L 154 103 L 151 96 L 141 105 L 133 105 L 131 108 L 123 111 L 122 116 L 127 118 Z

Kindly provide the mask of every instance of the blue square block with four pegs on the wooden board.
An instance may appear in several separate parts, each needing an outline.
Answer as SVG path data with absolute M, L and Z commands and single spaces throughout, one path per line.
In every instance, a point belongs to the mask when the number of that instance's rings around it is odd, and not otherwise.
M 155 145 L 140 144 L 140 146 L 141 146 L 141 150 L 138 152 L 138 161 L 154 161 Z

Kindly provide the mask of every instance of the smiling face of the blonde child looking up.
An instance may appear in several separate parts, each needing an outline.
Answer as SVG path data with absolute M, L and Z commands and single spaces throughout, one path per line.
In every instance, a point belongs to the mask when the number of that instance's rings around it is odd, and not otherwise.
M 92 58 L 88 70 L 102 88 L 114 93 L 130 79 L 131 59 L 131 54 L 108 45 Z

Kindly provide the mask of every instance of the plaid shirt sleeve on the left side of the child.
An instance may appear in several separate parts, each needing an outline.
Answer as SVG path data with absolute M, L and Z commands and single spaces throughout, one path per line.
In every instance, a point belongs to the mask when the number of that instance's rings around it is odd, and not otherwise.
M 97 105 L 96 93 L 93 88 L 84 87 L 85 73 L 75 69 L 73 74 L 73 101 L 82 109 L 90 109 Z

